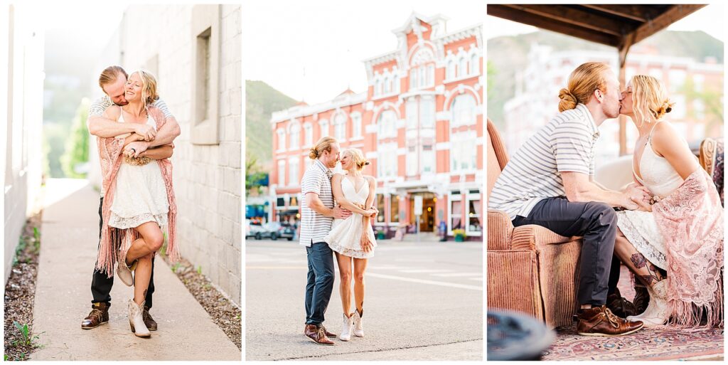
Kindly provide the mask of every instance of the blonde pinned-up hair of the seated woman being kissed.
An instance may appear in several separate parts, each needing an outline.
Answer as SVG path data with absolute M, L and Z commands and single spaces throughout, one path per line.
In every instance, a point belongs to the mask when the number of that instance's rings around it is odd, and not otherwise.
M 640 121 L 652 123 L 662 119 L 673 110 L 674 103 L 660 81 L 652 76 L 635 75 L 630 79 L 632 85 L 632 111 Z

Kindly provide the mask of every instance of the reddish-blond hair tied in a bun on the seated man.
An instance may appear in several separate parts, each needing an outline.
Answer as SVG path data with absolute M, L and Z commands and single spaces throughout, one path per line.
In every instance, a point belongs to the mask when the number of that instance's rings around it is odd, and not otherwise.
M 588 103 L 597 89 L 606 93 L 604 73 L 609 69 L 606 63 L 587 62 L 572 71 L 567 87 L 558 92 L 558 111 L 571 110 L 579 103 Z

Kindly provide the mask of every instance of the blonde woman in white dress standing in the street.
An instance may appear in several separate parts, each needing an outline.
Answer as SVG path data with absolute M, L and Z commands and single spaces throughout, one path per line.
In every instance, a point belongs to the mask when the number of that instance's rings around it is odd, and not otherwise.
M 359 149 L 346 149 L 341 153 L 341 168 L 331 178 L 331 189 L 336 203 L 352 212 L 347 219 L 335 219 L 331 232 L 324 238 L 336 254 L 339 263 L 339 291 L 341 307 L 344 310 L 344 326 L 339 339 L 349 341 L 352 332 L 364 337 L 362 317 L 364 315 L 364 272 L 367 259 L 373 256 L 376 240 L 371 227 L 371 217 L 376 197 L 376 180 L 365 176 L 362 170 L 369 162 Z M 352 263 L 353 262 L 353 263 Z M 353 267 L 353 270 L 352 270 Z M 354 277 L 355 312 L 351 312 L 352 271 Z

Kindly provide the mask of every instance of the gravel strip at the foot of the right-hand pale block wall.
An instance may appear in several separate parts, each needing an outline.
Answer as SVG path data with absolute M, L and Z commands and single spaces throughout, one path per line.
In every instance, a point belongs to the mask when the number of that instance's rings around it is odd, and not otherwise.
M 162 257 L 170 264 L 167 256 Z M 227 337 L 242 350 L 242 312 L 229 299 L 220 293 L 205 275 L 197 272 L 194 266 L 181 259 L 179 264 L 170 264 L 177 277 L 187 290 L 207 310 L 215 324 L 225 332 Z

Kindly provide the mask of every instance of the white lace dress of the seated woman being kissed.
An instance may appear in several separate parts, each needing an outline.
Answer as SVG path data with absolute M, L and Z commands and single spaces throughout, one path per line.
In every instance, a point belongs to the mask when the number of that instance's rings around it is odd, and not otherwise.
M 653 127 L 654 130 L 654 127 Z M 670 165 L 665 157 L 660 157 L 652 150 L 650 133 L 644 152 L 640 158 L 639 166 L 642 178 L 634 172 L 633 175 L 640 184 L 644 185 L 660 198 L 672 194 L 683 183 L 683 178 Z M 687 142 L 685 142 L 687 144 Z M 636 250 L 644 255 L 645 259 L 652 262 L 662 270 L 667 270 L 668 263 L 665 257 L 665 240 L 662 239 L 660 229 L 654 221 L 652 212 L 646 211 L 620 211 L 617 212 L 617 226 L 620 227 L 625 237 L 632 243 Z

